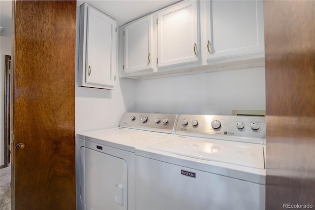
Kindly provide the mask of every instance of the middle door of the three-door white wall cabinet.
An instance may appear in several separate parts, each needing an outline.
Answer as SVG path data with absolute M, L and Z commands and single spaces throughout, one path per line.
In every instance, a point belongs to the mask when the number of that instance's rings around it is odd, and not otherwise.
M 158 67 L 199 61 L 197 2 L 158 12 Z

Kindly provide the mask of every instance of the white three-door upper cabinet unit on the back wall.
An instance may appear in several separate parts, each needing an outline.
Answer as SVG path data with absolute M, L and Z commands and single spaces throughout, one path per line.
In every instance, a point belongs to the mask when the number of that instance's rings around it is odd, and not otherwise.
M 260 67 L 263 1 L 183 0 L 120 27 L 119 37 L 120 77 Z

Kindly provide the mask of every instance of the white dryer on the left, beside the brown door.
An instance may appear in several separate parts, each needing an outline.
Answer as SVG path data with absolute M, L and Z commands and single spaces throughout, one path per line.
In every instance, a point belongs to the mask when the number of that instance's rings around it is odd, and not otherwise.
M 177 119 L 125 113 L 118 128 L 77 134 L 77 209 L 135 209 L 135 148 L 171 138 Z

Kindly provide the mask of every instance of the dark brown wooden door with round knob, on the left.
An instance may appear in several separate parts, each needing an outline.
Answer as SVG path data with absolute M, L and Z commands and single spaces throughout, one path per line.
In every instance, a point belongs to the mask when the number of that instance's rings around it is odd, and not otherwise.
M 16 1 L 15 210 L 75 210 L 76 1 Z

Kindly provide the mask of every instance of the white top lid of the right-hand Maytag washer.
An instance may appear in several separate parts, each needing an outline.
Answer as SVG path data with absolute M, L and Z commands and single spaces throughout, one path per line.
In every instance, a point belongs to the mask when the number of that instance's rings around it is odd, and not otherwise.
M 259 144 L 177 136 L 148 148 L 196 159 L 265 169 L 263 146 Z

